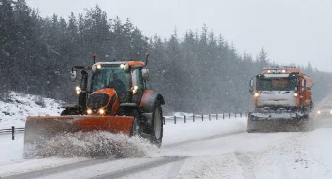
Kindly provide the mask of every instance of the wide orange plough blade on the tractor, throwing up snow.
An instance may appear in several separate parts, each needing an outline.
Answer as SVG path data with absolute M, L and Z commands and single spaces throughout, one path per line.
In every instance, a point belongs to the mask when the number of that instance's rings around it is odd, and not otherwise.
M 28 116 L 24 145 L 47 140 L 61 133 L 108 131 L 130 134 L 133 117 L 125 116 Z

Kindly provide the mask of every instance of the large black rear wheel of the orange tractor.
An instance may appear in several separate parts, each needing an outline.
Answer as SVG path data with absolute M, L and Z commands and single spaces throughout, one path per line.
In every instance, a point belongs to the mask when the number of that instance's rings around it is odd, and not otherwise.
M 152 144 L 161 146 L 161 142 L 163 140 L 163 130 L 164 125 L 162 122 L 163 114 L 160 105 L 156 105 L 154 107 L 154 111 L 152 113 L 152 121 L 151 121 L 151 134 L 150 141 Z

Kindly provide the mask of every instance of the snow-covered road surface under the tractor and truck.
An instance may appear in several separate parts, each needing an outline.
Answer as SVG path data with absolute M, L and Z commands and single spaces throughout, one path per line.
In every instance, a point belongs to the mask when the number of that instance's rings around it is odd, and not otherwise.
M 143 157 L 23 159 L 23 134 L 0 136 L 0 177 L 332 178 L 332 128 L 248 134 L 246 119 L 166 123 Z

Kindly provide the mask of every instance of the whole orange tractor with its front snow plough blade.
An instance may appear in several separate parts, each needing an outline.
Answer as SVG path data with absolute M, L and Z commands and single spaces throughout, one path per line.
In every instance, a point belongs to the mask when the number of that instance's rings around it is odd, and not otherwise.
M 60 133 L 108 131 L 140 135 L 161 145 L 163 137 L 161 94 L 149 90 L 149 71 L 142 61 L 94 62 L 92 66 L 74 66 L 71 79 L 81 70 L 77 105 L 64 105 L 61 116 L 29 116 L 24 143 L 34 144 Z M 94 55 L 94 60 L 96 56 Z

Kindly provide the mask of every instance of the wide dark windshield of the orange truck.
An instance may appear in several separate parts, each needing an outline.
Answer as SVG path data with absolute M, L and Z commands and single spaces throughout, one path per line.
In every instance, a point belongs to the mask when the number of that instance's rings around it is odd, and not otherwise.
M 293 91 L 297 90 L 296 78 L 258 78 L 257 91 Z

